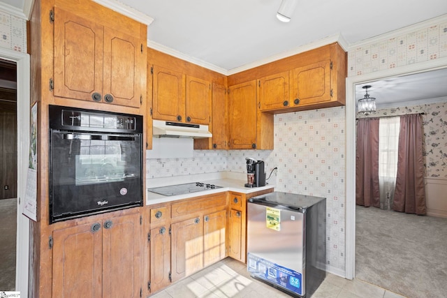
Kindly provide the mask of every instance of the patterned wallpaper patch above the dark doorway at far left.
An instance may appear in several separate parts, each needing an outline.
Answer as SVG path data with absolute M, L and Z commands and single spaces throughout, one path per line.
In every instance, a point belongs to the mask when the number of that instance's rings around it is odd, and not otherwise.
M 27 52 L 27 21 L 0 12 L 0 47 Z

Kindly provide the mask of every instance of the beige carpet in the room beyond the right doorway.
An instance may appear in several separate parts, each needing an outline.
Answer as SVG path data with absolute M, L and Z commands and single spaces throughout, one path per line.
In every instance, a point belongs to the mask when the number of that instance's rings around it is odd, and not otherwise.
M 447 297 L 447 218 L 356 206 L 356 278 L 410 298 Z

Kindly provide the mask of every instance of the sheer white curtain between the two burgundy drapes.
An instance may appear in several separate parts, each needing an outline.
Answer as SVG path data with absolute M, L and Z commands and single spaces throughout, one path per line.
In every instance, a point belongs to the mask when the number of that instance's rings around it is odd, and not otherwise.
M 400 117 L 379 121 L 379 191 L 381 209 L 391 209 L 397 174 Z

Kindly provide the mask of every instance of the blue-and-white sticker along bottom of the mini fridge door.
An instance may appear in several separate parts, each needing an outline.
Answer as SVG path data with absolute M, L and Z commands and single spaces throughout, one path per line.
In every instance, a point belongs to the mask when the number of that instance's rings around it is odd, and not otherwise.
M 248 253 L 247 269 L 251 274 L 259 278 L 280 285 L 282 288 L 286 288 L 298 295 L 303 295 L 302 274 L 300 272 L 259 258 L 253 253 Z

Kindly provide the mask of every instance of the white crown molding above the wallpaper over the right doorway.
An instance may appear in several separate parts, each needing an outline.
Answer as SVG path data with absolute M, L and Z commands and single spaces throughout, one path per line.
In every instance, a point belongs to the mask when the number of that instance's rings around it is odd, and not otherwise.
M 447 22 L 447 14 L 440 15 L 439 17 L 433 17 L 432 19 L 425 20 L 422 22 L 418 22 L 416 24 L 411 24 L 407 27 L 402 27 L 401 29 L 396 29 L 393 31 L 389 31 L 387 33 L 383 33 L 378 36 L 374 36 L 372 38 L 367 38 L 365 40 L 360 40 L 357 43 L 351 43 L 347 52 L 356 50 L 358 47 L 364 47 L 365 45 L 372 45 L 374 43 L 380 43 L 383 40 L 388 40 L 391 38 L 396 38 L 397 36 L 406 35 L 408 33 L 413 33 L 422 29 L 426 29 L 427 27 L 435 26 L 440 24 L 441 22 Z

